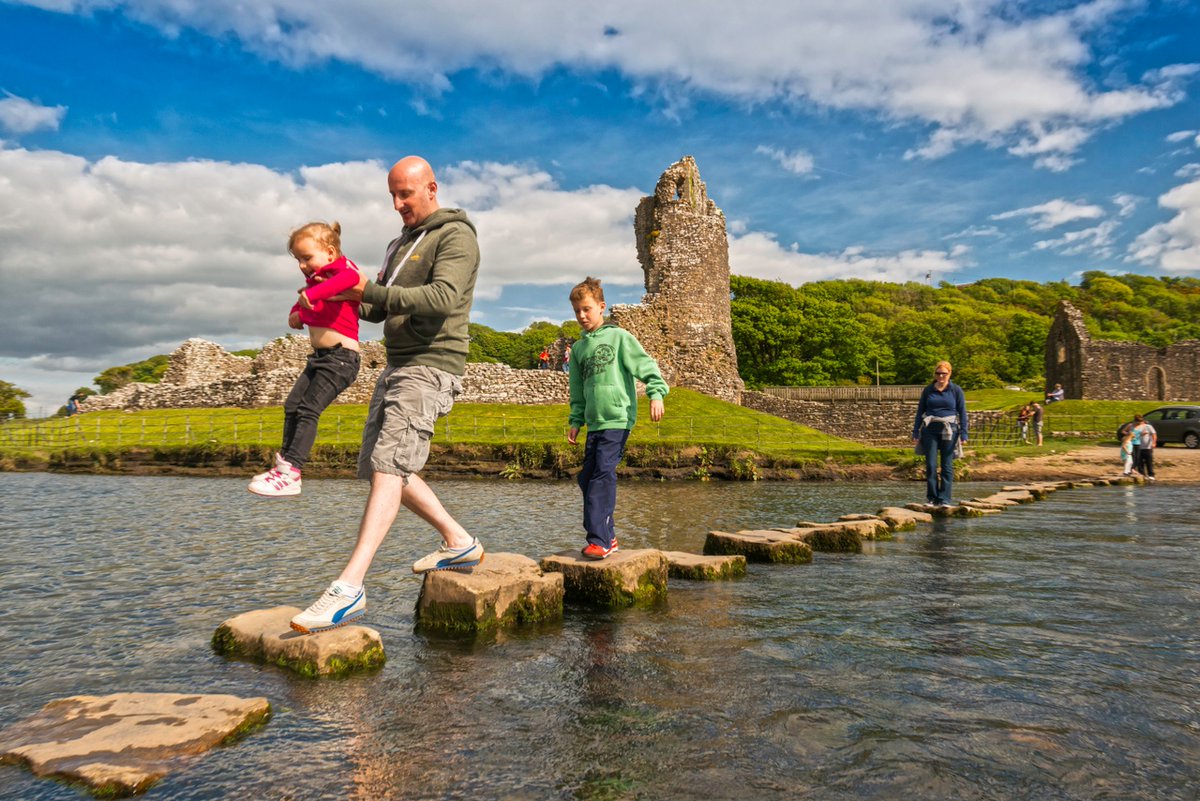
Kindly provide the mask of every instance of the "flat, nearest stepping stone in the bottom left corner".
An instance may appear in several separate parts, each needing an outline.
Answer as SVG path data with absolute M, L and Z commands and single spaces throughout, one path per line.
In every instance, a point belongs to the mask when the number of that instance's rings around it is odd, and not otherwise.
M 0 730 L 0 763 L 85 785 L 144 793 L 187 757 L 238 740 L 270 717 L 265 698 L 179 693 L 72 695 Z

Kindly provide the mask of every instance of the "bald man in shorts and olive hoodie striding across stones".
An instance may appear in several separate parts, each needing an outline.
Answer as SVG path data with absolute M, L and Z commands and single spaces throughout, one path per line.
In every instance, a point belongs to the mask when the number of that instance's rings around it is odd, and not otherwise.
M 404 222 L 388 246 L 376 281 L 365 277 L 344 293 L 361 300 L 359 315 L 383 323 L 388 367 L 379 375 L 359 452 L 359 477 L 371 481 L 354 552 L 322 596 L 292 619 L 312 633 L 343 626 L 366 613 L 362 584 L 401 505 L 442 535 L 442 547 L 413 565 L 414 573 L 474 567 L 484 547 L 442 506 L 418 475 L 430 454 L 433 423 L 462 391 L 467 323 L 479 271 L 475 227 L 461 209 L 438 205 L 428 162 L 400 159 L 388 173 L 392 206 Z M 340 299 L 343 296 L 340 296 Z

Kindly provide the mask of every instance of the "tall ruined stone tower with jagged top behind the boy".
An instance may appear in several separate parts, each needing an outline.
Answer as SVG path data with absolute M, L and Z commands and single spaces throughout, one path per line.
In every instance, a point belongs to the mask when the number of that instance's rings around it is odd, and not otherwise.
M 658 360 L 671 386 L 738 403 L 744 385 L 733 349 L 725 215 L 691 156 L 667 168 L 654 194 L 637 204 L 634 235 L 646 295 L 637 306 L 613 306 L 612 320 Z

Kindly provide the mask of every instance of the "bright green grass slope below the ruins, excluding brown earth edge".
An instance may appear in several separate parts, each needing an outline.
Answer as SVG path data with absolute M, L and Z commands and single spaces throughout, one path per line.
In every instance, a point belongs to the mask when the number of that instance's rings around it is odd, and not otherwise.
M 443 445 L 566 444 L 566 404 L 515 405 L 461 403 L 437 422 L 433 441 Z M 358 446 L 366 406 L 334 405 L 320 417 L 318 446 Z M 0 451 L 98 451 L 131 447 L 252 446 L 277 447 L 283 411 L 268 409 L 152 409 L 94 411 L 74 417 L 13 421 L 0 424 Z M 876 448 L 754 411 L 700 392 L 674 389 L 666 415 L 650 422 L 649 402 L 638 401 L 631 446 L 656 444 L 742 447 L 766 456 L 826 457 L 880 462 L 895 448 Z

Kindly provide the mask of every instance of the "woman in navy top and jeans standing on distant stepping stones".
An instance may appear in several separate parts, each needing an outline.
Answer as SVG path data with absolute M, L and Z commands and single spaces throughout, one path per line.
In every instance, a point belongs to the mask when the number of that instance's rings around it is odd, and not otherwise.
M 950 362 L 937 362 L 912 423 L 912 444 L 925 454 L 925 501 L 934 506 L 954 506 L 954 457 L 967 441 L 967 401 L 952 372 Z

